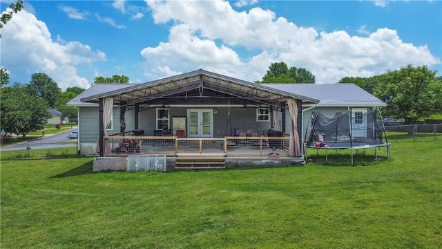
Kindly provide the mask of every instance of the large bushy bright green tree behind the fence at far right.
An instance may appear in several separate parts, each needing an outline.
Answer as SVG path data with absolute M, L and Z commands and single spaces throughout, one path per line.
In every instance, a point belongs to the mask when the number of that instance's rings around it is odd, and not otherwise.
M 393 97 L 387 102 L 383 113 L 393 118 L 403 118 L 407 124 L 441 113 L 442 83 L 436 73 L 427 66 L 407 65 L 376 76 L 374 95 L 378 98 L 383 95 Z

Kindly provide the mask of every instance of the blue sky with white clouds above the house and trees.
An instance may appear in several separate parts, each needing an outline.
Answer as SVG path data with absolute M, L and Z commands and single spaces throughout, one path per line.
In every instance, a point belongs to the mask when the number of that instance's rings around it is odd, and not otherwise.
M 10 3 L 0 0 L 0 11 Z M 254 82 L 274 62 L 316 84 L 412 64 L 442 73 L 442 1 L 26 1 L 1 28 L 10 85 L 62 91 L 97 76 L 144 83 L 204 69 Z

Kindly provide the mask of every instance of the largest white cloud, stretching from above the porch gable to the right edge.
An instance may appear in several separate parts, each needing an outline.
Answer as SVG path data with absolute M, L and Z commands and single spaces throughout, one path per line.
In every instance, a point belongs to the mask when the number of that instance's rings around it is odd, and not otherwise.
M 227 1 L 146 1 L 156 24 L 175 23 L 169 41 L 141 51 L 148 75 L 158 68 L 174 71 L 203 68 L 244 80 L 261 80 L 272 62 L 306 68 L 318 83 L 338 82 L 348 75 L 366 77 L 406 64 L 439 64 L 427 46 L 405 44 L 396 30 L 380 28 L 368 37 L 343 30 L 318 33 L 298 27 L 271 10 L 237 12 Z M 216 17 L 216 18 L 213 18 Z M 254 55 L 241 57 L 240 50 Z M 154 69 L 152 69 L 154 68 Z M 154 77 L 155 78 L 155 77 Z

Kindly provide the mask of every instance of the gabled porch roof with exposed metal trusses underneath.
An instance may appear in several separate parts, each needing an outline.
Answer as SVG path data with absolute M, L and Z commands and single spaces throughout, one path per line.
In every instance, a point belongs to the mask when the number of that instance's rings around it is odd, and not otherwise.
M 229 98 L 233 102 L 248 100 L 260 104 L 278 104 L 287 102 L 288 99 L 302 100 L 302 104 L 319 102 L 313 98 L 204 70 L 93 95 L 82 98 L 81 102 L 98 103 L 100 98 L 106 97 L 113 97 L 114 104 L 120 106 L 171 104 L 195 98 Z

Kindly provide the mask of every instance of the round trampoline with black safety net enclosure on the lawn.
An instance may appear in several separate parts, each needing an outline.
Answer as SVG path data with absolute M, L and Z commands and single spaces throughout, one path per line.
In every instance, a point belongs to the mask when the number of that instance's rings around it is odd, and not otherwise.
M 390 143 L 387 141 L 383 123 L 377 122 L 382 119 L 379 109 L 376 107 L 370 111 L 365 109 L 347 108 L 346 113 L 335 113 L 332 118 L 327 118 L 320 111 L 313 111 L 306 130 L 305 143 L 306 158 L 308 149 L 350 149 L 353 165 L 354 149 L 374 148 L 377 159 L 377 149 L 387 148 L 387 157 L 390 156 Z

